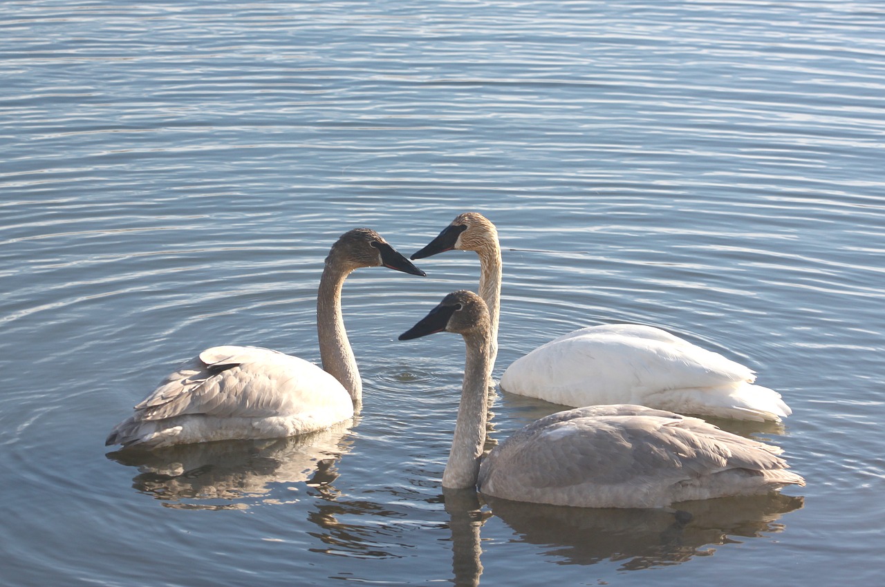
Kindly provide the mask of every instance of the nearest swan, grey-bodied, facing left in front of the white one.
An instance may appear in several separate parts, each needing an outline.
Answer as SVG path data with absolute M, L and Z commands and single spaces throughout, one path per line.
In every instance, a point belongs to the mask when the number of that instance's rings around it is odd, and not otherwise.
M 576 507 L 666 507 L 772 492 L 804 479 L 781 449 L 698 418 L 644 406 L 575 408 L 528 424 L 481 460 L 491 318 L 473 292 L 447 295 L 400 340 L 456 332 L 466 344 L 458 421 L 443 488 Z

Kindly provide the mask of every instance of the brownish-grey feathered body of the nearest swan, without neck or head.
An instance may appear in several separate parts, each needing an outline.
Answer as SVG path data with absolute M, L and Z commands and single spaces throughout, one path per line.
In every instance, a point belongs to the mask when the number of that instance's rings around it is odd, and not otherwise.
M 635 408 L 611 415 L 579 408 L 529 424 L 483 462 L 481 491 L 573 506 L 659 507 L 804 483 L 783 470 L 776 447 L 697 418 Z

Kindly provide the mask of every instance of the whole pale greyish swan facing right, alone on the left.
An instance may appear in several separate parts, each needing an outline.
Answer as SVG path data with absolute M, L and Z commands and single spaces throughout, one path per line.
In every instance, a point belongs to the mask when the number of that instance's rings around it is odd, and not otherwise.
M 349 419 L 361 406 L 363 385 L 344 330 L 341 291 L 351 271 L 378 266 L 426 275 L 367 228 L 342 234 L 329 251 L 317 293 L 322 369 L 269 348 L 207 348 L 136 405 L 105 446 L 283 438 Z

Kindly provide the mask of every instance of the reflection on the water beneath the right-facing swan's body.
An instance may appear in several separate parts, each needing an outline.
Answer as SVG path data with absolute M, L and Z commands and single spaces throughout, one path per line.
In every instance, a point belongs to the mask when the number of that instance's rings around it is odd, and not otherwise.
M 122 449 L 112 461 L 137 468 L 133 487 L 164 501 L 165 507 L 242 509 L 242 500 L 271 499 L 273 484 L 330 484 L 335 462 L 349 450 L 352 421 L 290 438 L 230 440 L 170 446 L 153 451 Z M 212 502 L 210 500 L 217 500 Z

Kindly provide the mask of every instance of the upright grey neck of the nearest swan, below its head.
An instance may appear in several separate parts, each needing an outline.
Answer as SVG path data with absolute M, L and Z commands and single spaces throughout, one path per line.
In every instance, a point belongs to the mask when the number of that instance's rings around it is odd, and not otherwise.
M 464 336 L 467 360 L 464 385 L 458 406 L 458 423 L 451 441 L 449 462 L 443 472 L 443 487 L 473 487 L 480 474 L 480 457 L 486 440 L 486 394 L 489 370 L 489 339 L 476 334 Z

